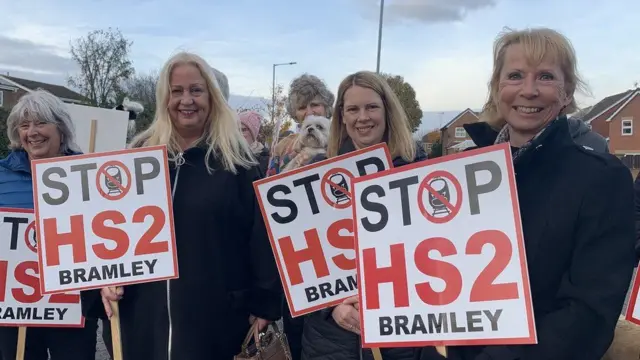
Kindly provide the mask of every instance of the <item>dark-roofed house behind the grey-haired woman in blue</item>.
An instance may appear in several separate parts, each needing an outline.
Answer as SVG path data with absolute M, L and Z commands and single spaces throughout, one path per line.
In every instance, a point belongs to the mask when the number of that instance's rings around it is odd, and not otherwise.
M 87 98 L 61 85 L 0 75 L 0 107 L 11 109 L 22 95 L 37 89 L 47 90 L 65 103 L 88 103 Z

